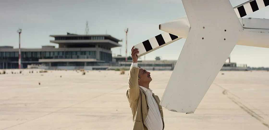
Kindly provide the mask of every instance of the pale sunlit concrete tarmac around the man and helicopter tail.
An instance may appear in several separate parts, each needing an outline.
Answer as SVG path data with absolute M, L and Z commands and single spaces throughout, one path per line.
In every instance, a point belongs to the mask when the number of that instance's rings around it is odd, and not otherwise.
M 75 70 L 6 72 L 0 74 L 0 130 L 133 127 L 126 98 L 129 71 L 124 75 L 105 70 L 85 71 L 85 75 Z M 150 88 L 160 98 L 171 74 L 151 71 Z M 268 99 L 268 71 L 220 71 L 194 114 L 163 108 L 164 129 L 268 130 Z

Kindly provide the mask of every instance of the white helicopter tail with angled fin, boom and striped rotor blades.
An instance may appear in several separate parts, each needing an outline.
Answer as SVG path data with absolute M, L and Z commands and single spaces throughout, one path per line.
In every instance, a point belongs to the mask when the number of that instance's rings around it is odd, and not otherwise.
M 165 33 L 134 48 L 141 57 L 186 39 L 160 104 L 169 111 L 194 113 L 235 45 L 269 48 L 269 19 L 242 18 L 268 6 L 269 0 L 250 0 L 234 8 L 229 0 L 182 4 L 187 16 L 160 24 Z

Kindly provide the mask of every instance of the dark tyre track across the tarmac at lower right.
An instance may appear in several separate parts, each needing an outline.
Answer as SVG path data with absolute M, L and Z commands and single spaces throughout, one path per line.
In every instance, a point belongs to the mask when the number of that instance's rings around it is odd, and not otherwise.
M 269 128 L 269 124 L 267 123 L 268 121 L 266 119 L 264 119 L 263 117 L 261 117 L 260 115 L 258 115 L 256 112 L 252 111 L 251 109 L 249 109 L 246 105 L 244 105 L 242 103 L 242 101 L 239 101 L 240 98 L 237 97 L 236 95 L 232 94 L 231 92 L 229 92 L 229 90 L 225 89 L 224 87 L 221 87 L 220 85 L 213 83 L 215 85 L 217 85 L 218 87 L 224 89 L 224 91 L 222 91 L 223 95 L 226 95 L 230 100 L 232 100 L 232 102 L 234 102 L 236 105 L 238 105 L 241 109 L 243 109 L 245 112 L 247 112 L 247 114 L 251 115 L 252 117 L 256 118 L 258 121 L 260 121 L 263 125 L 265 125 L 267 128 Z M 253 107 L 253 106 L 252 106 Z M 253 107 L 254 108 L 254 107 Z M 258 110 L 258 109 L 256 109 Z M 261 113 L 263 113 L 262 111 L 260 111 Z M 263 113 L 264 114 L 264 113 Z

